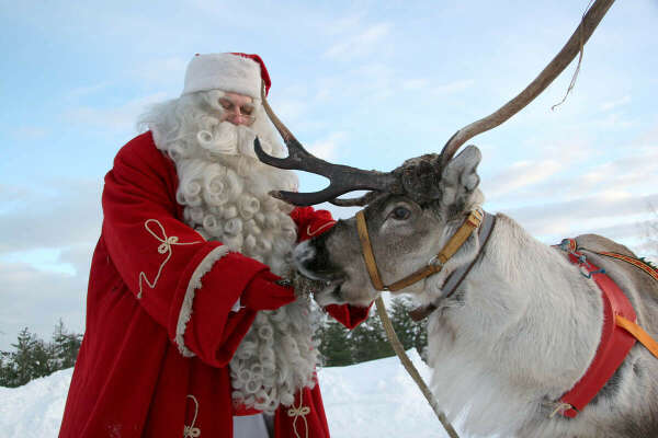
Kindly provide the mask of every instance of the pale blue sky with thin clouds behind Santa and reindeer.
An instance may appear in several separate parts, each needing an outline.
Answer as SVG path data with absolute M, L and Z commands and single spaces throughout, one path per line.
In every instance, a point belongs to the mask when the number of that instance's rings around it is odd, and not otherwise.
M 588 1 L 0 0 L 0 349 L 23 326 L 81 332 L 102 178 L 194 53 L 258 53 L 309 149 L 390 170 L 436 152 L 543 69 Z M 470 142 L 489 211 L 546 243 L 599 232 L 656 256 L 658 3 L 616 2 L 575 65 Z M 320 177 L 302 176 L 317 189 Z M 337 210 L 338 216 L 350 209 Z

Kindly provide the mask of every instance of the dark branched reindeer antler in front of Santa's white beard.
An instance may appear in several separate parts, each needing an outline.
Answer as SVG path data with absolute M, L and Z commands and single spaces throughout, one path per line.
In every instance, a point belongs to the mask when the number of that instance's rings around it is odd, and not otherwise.
M 330 184 L 327 188 L 313 193 L 295 193 L 286 191 L 271 192 L 270 195 L 286 200 L 297 206 L 308 206 L 320 204 L 326 200 L 336 200 L 342 194 L 353 191 L 379 191 L 379 192 L 402 192 L 399 187 L 398 178 L 390 172 L 364 171 L 343 164 L 333 164 L 321 160 L 308 152 L 285 125 L 276 117 L 276 114 L 270 107 L 264 94 L 264 87 L 261 90 L 261 100 L 265 113 L 283 137 L 288 150 L 288 157 L 275 158 L 269 155 L 261 148 L 258 137 L 253 141 L 253 150 L 258 158 L 265 164 L 280 169 L 298 170 L 322 175 L 329 178 Z M 338 200 L 340 203 L 340 200 Z M 348 200 L 344 200 L 348 201 Z

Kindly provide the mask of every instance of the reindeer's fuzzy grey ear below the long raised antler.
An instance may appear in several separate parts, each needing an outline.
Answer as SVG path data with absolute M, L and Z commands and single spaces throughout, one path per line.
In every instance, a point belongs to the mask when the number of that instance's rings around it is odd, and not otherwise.
M 470 145 L 447 163 L 441 173 L 442 204 L 458 206 L 467 204 L 468 198 L 479 185 L 477 165 L 481 158 L 479 149 Z

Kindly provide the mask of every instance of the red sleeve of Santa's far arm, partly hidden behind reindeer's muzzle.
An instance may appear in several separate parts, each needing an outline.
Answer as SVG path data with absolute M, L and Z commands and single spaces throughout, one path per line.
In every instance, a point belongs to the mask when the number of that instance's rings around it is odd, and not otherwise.
M 316 210 L 313 207 L 297 207 L 291 212 L 291 217 L 297 224 L 299 242 L 329 231 L 336 223 L 329 211 Z M 325 310 L 345 327 L 354 328 L 367 319 L 370 307 L 330 304 Z

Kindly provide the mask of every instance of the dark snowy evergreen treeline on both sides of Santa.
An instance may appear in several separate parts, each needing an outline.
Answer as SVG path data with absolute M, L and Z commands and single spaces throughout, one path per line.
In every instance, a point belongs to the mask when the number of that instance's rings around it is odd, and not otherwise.
M 416 348 L 424 357 L 426 325 L 409 318 L 410 309 L 408 300 L 396 298 L 389 304 L 388 314 L 405 349 Z M 340 367 L 393 356 L 395 353 L 375 313 L 373 307 L 371 318 L 352 331 L 326 316 L 316 331 L 322 365 Z M 69 333 L 61 320 L 49 342 L 38 338 L 27 327 L 23 328 L 16 343 L 12 344 L 15 351 L 0 351 L 0 387 L 21 387 L 32 379 L 72 367 L 81 342 L 82 335 Z

